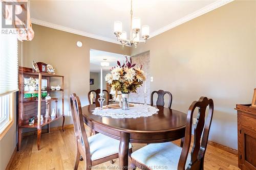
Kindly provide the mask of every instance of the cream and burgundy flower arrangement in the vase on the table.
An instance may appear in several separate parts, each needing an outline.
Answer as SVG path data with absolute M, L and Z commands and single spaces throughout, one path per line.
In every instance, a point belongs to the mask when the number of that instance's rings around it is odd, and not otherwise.
M 136 89 L 146 80 L 142 65 L 135 67 L 136 64 L 132 64 L 132 58 L 130 58 L 130 61 L 127 57 L 125 58 L 126 61 L 122 66 L 117 61 L 117 66 L 110 69 L 110 73 L 105 76 L 105 81 L 115 91 L 121 91 L 122 93 L 137 92 Z

